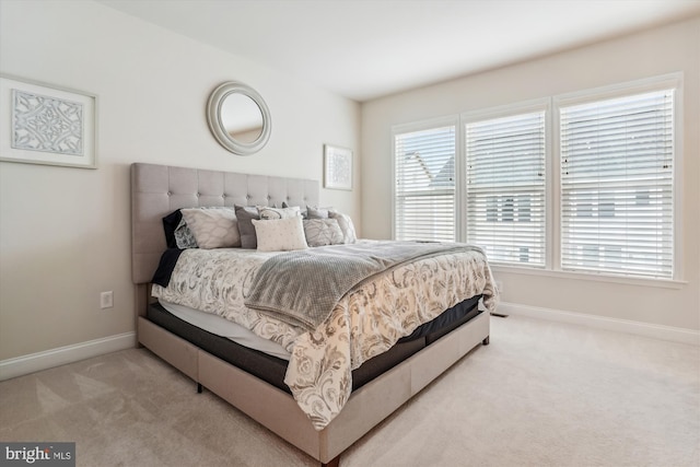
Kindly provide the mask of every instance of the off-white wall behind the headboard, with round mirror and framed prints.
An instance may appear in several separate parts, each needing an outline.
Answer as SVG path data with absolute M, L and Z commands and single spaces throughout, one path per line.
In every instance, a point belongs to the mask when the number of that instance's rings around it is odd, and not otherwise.
M 133 330 L 132 162 L 320 180 L 324 143 L 359 148 L 359 104 L 91 1 L 3 0 L 0 60 L 100 105 L 96 171 L 0 163 L 0 362 Z M 270 108 L 258 154 L 225 151 L 207 127 L 207 97 L 230 80 Z M 358 189 L 320 197 L 361 227 Z

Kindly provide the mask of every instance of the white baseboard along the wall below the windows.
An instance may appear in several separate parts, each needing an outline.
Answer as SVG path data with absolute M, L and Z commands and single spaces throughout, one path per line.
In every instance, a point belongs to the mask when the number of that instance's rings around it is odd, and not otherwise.
M 686 328 L 653 325 L 649 323 L 632 322 L 628 319 L 609 318 L 605 316 L 588 315 L 584 313 L 561 312 L 559 310 L 518 305 L 516 303 L 508 302 L 501 302 L 499 304 L 497 313 L 504 315 L 528 316 L 539 319 L 549 319 L 552 322 L 569 323 L 588 326 L 597 329 L 627 332 L 637 336 L 669 340 L 673 342 L 700 346 L 700 332 Z

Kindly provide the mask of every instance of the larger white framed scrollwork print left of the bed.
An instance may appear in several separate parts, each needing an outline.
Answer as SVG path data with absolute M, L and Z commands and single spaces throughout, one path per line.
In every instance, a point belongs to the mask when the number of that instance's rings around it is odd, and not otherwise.
M 0 77 L 0 161 L 97 168 L 97 96 Z

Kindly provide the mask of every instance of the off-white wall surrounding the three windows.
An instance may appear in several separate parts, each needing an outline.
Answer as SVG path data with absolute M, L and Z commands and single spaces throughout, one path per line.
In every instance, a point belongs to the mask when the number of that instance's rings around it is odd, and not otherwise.
M 466 54 L 467 51 L 465 51 Z M 521 308 L 596 319 L 700 329 L 700 17 L 572 51 L 422 87 L 362 105 L 362 223 L 366 237 L 392 235 L 390 127 L 681 71 L 685 74 L 681 203 L 684 268 L 675 288 L 534 276 L 494 268 L 502 300 Z M 560 314 L 562 315 L 562 314 Z

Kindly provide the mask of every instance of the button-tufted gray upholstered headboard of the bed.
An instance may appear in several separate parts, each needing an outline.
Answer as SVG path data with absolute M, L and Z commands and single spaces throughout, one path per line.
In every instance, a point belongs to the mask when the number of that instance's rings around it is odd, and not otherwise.
M 166 249 L 163 218 L 178 208 L 318 206 L 317 180 L 131 164 L 131 279 L 151 282 Z

